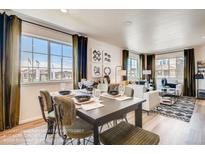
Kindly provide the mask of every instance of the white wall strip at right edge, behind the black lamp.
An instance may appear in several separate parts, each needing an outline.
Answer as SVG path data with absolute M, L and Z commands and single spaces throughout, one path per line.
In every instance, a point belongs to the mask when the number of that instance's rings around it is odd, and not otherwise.
M 194 48 L 195 50 L 195 63 L 196 63 L 196 73 L 197 73 L 197 61 L 205 61 L 205 44 L 201 46 L 197 46 Z M 205 89 L 205 79 L 199 80 L 199 89 Z

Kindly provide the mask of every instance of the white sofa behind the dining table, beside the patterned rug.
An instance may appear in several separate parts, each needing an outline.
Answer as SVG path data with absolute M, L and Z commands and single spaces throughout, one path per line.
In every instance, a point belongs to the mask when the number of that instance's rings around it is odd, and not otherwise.
M 156 106 L 160 105 L 160 96 L 159 91 L 153 90 L 146 92 L 146 88 L 144 85 L 128 85 L 129 87 L 134 89 L 134 97 L 144 98 L 146 102 L 143 103 L 142 109 L 145 111 L 151 111 Z

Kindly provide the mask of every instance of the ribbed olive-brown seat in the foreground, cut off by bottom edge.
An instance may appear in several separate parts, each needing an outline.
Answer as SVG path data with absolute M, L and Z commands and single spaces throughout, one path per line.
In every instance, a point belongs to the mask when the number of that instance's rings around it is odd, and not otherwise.
M 123 121 L 101 133 L 100 141 L 105 145 L 157 145 L 160 137 Z

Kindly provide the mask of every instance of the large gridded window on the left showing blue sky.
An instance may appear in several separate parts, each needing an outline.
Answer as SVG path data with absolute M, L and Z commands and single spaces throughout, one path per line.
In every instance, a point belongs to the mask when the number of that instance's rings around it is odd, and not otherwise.
M 72 79 L 72 47 L 65 43 L 23 35 L 21 82 Z

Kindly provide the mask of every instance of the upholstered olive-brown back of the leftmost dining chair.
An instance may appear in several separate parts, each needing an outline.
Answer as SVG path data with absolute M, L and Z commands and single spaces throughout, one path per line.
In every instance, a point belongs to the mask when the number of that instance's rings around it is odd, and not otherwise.
M 43 111 L 53 111 L 53 102 L 50 93 L 47 90 L 40 90 L 40 96 L 42 97 Z

